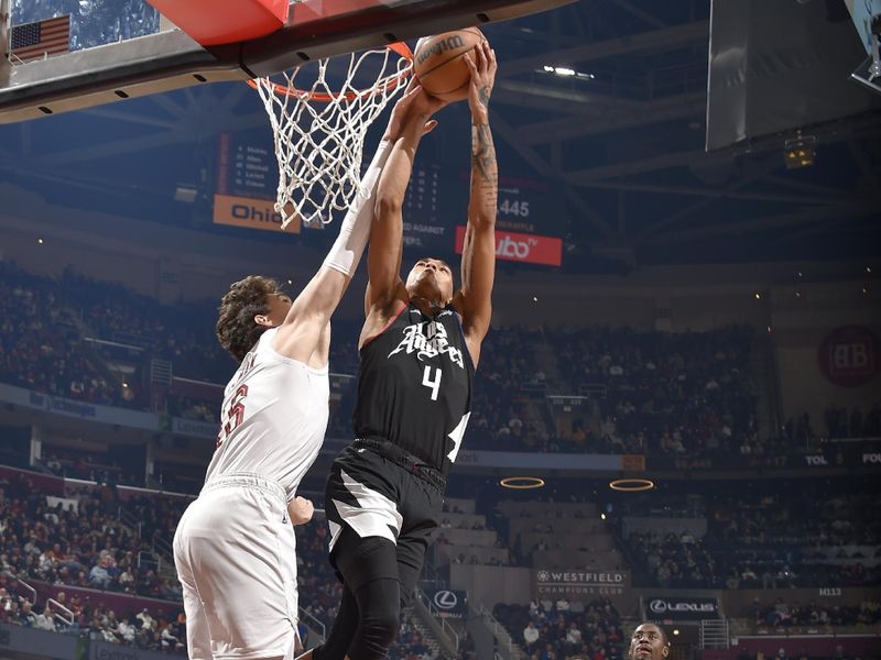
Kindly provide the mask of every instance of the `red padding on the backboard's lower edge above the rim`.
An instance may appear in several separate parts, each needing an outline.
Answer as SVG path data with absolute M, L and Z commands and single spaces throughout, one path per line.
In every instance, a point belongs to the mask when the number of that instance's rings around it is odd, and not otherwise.
M 289 0 L 146 0 L 203 46 L 272 34 L 287 20 Z

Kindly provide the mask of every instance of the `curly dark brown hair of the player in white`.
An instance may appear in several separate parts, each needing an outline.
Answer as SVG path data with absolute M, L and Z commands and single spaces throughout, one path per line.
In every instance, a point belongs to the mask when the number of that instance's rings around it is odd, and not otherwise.
M 282 293 L 281 286 L 271 277 L 249 275 L 233 282 L 220 300 L 217 319 L 217 339 L 220 345 L 241 362 L 260 337 L 269 330 L 254 322 L 259 314 L 269 314 L 268 298 Z

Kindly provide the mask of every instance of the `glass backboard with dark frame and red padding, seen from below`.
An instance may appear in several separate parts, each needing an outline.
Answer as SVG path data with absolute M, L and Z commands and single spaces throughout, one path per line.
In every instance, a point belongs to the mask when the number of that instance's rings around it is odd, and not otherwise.
M 247 80 L 297 62 L 507 21 L 572 1 L 294 0 L 275 32 L 203 46 L 146 0 L 0 0 L 7 9 L 0 9 L 0 44 L 12 46 L 0 57 L 0 123 Z

